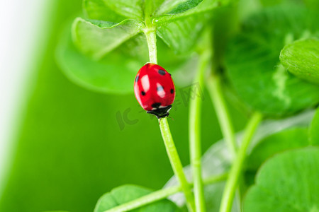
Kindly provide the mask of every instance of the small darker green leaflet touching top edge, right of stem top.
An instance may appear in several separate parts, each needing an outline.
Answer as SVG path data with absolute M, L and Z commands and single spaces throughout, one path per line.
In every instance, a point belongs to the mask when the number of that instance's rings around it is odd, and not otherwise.
M 165 0 L 155 12 L 155 16 L 183 13 L 184 11 L 196 7 L 201 1 L 203 0 Z

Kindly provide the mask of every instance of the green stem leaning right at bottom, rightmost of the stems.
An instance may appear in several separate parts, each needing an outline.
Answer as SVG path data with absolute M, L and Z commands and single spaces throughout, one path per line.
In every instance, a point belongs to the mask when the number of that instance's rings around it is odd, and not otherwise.
M 245 134 L 236 155 L 236 159 L 234 160 L 233 165 L 230 168 L 229 177 L 227 179 L 222 201 L 220 204 L 220 212 L 229 212 L 233 206 L 233 199 L 240 175 L 242 173 L 242 167 L 245 162 L 247 148 L 250 145 L 250 141 L 252 140 L 252 136 L 254 135 L 259 122 L 261 121 L 262 114 L 260 114 L 259 112 L 255 112 L 252 115 L 250 122 L 248 122 L 246 126 Z

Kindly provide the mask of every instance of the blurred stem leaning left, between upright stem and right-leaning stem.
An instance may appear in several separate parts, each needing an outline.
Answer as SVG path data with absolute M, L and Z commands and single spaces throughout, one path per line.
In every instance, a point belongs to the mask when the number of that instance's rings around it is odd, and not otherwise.
M 220 129 L 228 146 L 228 150 L 235 157 L 237 152 L 236 139 L 233 124 L 230 119 L 230 114 L 228 112 L 228 107 L 225 102 L 223 95 L 222 86 L 220 83 L 220 76 L 217 73 L 212 73 L 207 79 L 206 85 L 208 92 L 211 95 L 211 100 L 216 110 L 216 115 L 218 122 L 220 124 Z

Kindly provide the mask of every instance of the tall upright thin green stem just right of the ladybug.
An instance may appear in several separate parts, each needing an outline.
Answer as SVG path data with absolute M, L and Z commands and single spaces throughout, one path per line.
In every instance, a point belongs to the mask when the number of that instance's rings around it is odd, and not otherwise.
M 191 169 L 193 171 L 194 196 L 196 212 L 205 212 L 205 198 L 203 194 L 203 179 L 201 176 L 201 95 L 198 88 L 203 87 L 203 73 L 209 61 L 208 54 L 200 55 L 197 75 L 194 81 L 197 90 L 190 97 L 189 107 L 189 151 L 191 153 Z

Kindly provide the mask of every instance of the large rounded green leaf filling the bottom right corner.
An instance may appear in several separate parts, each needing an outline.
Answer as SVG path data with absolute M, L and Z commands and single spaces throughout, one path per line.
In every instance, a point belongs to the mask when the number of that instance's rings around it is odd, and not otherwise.
M 245 212 L 319 211 L 319 148 L 287 151 L 268 160 L 245 196 Z

